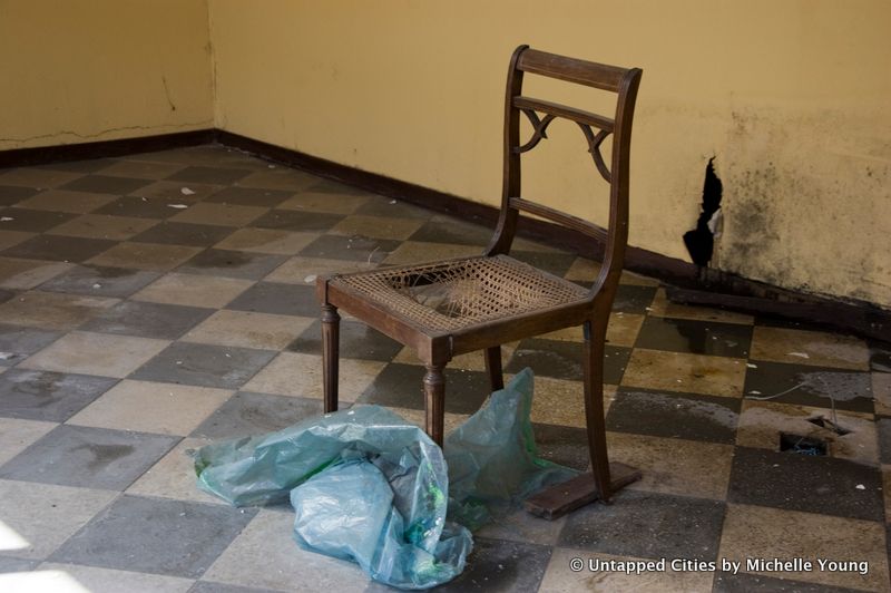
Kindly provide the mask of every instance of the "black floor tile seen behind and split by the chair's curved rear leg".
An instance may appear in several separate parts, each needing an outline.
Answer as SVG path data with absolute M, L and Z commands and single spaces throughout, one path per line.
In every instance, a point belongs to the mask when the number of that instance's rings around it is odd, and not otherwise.
M 630 348 L 607 346 L 604 359 L 604 382 L 618 385 L 628 359 Z M 507 372 L 519 372 L 530 367 L 536 375 L 554 377 L 569 381 L 581 381 L 584 378 L 584 352 L 580 342 L 564 340 L 545 340 L 531 338 L 523 340 L 513 351 L 513 356 L 506 367 Z

